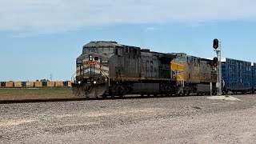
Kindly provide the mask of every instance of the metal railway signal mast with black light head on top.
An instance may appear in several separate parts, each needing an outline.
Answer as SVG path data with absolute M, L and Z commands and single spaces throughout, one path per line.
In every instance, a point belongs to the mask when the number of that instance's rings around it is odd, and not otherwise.
M 222 51 L 221 42 L 218 42 L 218 39 L 214 39 L 214 51 L 218 58 L 218 95 L 222 95 Z

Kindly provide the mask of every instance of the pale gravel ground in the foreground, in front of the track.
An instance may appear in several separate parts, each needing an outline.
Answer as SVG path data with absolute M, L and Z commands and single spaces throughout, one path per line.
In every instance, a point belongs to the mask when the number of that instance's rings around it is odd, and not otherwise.
M 256 95 L 0 105 L 0 143 L 256 143 Z

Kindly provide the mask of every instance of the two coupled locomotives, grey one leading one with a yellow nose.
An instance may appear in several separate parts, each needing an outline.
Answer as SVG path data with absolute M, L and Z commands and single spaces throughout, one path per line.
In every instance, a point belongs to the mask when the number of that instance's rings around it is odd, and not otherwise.
M 103 98 L 216 94 L 216 83 L 212 59 L 97 41 L 82 46 L 72 90 L 78 97 Z

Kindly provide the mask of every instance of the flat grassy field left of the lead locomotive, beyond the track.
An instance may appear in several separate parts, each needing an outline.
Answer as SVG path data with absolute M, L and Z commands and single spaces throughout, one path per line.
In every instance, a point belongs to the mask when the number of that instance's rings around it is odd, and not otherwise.
M 71 88 L 1 88 L 0 100 L 74 98 Z

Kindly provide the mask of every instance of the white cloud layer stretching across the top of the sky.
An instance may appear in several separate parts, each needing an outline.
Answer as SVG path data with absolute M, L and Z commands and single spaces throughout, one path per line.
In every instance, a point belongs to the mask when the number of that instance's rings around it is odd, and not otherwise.
M 0 30 L 52 34 L 111 24 L 255 20 L 254 0 L 2 0 Z

